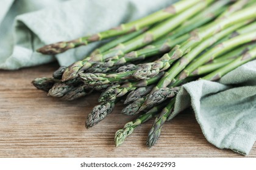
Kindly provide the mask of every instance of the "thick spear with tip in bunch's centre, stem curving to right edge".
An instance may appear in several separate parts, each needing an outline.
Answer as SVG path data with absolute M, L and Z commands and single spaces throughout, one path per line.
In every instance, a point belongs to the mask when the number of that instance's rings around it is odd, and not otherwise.
M 159 71 L 168 69 L 171 63 L 173 63 L 174 61 L 176 61 L 178 58 L 182 57 L 186 53 L 190 52 L 190 50 L 196 47 L 200 42 L 202 42 L 203 39 L 211 35 L 214 35 L 216 32 L 219 32 L 220 30 L 225 29 L 226 27 L 230 27 L 230 25 L 233 25 L 233 24 L 240 25 L 241 24 L 240 22 L 243 22 L 244 19 L 256 18 L 256 14 L 254 12 L 255 10 L 256 10 L 256 6 L 247 7 L 246 9 L 233 13 L 226 19 L 217 19 L 211 24 L 205 27 L 202 27 L 201 29 L 198 30 L 198 32 L 194 32 L 193 36 L 191 36 L 191 38 L 188 39 L 188 41 L 185 41 L 181 46 L 177 45 L 176 47 L 174 47 L 174 49 L 171 50 L 171 52 L 165 54 L 163 58 L 160 59 L 160 61 L 156 61 L 155 63 L 145 64 L 144 67 L 140 67 L 137 71 L 135 71 L 135 73 L 133 73 L 133 77 L 140 78 L 140 79 L 154 77 Z M 187 64 L 188 62 L 189 61 L 187 61 L 187 58 L 186 58 L 186 60 L 180 59 L 179 63 Z M 184 66 L 184 64 L 180 65 L 176 63 L 176 65 L 172 67 L 172 70 L 174 69 L 176 70 L 176 72 L 173 72 L 173 74 L 180 72 L 180 70 L 182 70 L 182 66 Z M 177 69 L 177 67 L 179 69 Z M 175 76 L 176 75 L 174 75 L 174 77 Z M 174 78 L 173 75 L 170 75 L 169 77 L 170 78 L 166 80 L 169 81 L 169 79 L 171 80 L 171 78 Z

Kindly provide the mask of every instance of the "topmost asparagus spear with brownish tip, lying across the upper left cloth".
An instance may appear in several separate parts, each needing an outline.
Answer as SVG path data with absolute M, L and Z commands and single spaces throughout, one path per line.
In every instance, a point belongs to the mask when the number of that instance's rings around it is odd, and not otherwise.
M 182 12 L 185 9 L 188 9 L 192 5 L 195 5 L 200 0 L 193 1 L 179 1 L 176 4 L 173 4 L 166 9 L 160 10 L 158 12 L 152 13 L 144 18 L 137 19 L 132 22 L 128 22 L 126 24 L 121 24 L 119 27 L 115 27 L 113 29 L 96 33 L 94 35 L 84 36 L 82 38 L 74 39 L 72 41 L 62 41 L 57 42 L 55 44 L 50 44 L 48 46 L 41 47 L 37 51 L 44 54 L 55 55 L 57 53 L 65 52 L 68 49 L 73 49 L 79 46 L 85 46 L 90 42 L 99 41 L 102 39 L 112 38 L 118 35 L 124 35 L 129 32 L 134 32 L 136 30 L 140 30 L 143 27 L 152 25 L 156 22 L 163 21 L 166 18 L 170 18 L 171 16 L 176 15 L 177 13 Z

